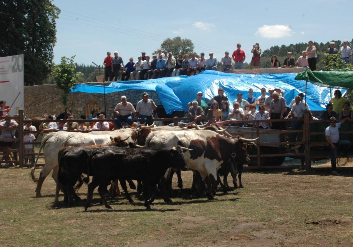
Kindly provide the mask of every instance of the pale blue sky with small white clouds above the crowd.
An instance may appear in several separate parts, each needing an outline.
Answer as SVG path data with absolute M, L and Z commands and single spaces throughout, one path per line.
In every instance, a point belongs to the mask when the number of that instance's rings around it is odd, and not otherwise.
M 106 52 L 113 55 L 115 50 L 126 63 L 131 56 L 137 60 L 142 51 L 151 55 L 164 39 L 175 36 L 189 38 L 198 54 L 212 51 L 219 60 L 241 43 L 249 62 L 255 42 L 264 50 L 308 40 L 351 40 L 353 34 L 352 0 L 53 3 L 61 9 L 56 64 L 61 56 L 76 55 L 79 64 L 102 65 Z

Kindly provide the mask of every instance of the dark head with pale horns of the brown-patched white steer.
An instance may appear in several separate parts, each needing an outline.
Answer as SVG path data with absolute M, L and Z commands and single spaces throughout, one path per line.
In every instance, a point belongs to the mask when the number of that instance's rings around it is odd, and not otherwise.
M 235 163 L 249 164 L 250 157 L 249 157 L 248 150 L 249 148 L 253 148 L 254 146 L 256 147 L 256 144 L 254 142 L 258 138 L 246 139 L 243 137 L 234 137 L 229 139 L 231 139 L 231 142 L 233 144 L 233 149 L 231 153 L 232 162 L 234 164 Z

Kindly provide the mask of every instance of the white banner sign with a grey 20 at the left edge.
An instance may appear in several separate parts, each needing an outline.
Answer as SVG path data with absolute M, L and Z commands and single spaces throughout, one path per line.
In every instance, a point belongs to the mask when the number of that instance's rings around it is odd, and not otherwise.
M 23 54 L 0 58 L 0 101 L 12 108 L 10 116 L 24 107 L 23 71 Z

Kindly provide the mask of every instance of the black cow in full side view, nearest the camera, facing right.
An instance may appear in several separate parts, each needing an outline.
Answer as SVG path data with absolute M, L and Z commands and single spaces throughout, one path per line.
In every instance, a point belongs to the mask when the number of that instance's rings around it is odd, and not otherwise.
M 117 178 L 133 179 L 142 182 L 144 205 L 150 209 L 148 201 L 149 187 L 155 189 L 166 170 L 170 167 L 186 170 L 184 154 L 180 146 L 172 149 L 154 150 L 149 148 L 128 150 L 103 150 L 94 152 L 91 158 L 93 178 L 88 185 L 87 202 L 85 210 L 90 206 L 93 191 L 98 187 L 107 208 L 111 208 L 105 198 L 109 180 Z M 121 180 L 120 180 L 121 181 Z M 123 187 L 123 185 L 121 185 Z M 154 191 L 155 192 L 155 191 Z M 153 195 L 152 195 L 153 198 Z

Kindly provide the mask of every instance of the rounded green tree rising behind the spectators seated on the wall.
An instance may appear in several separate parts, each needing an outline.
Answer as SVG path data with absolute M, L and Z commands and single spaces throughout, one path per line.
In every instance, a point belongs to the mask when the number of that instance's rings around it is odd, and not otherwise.
M 181 38 L 179 36 L 174 38 L 167 38 L 161 44 L 162 50 L 167 50 L 168 52 L 172 52 L 174 57 L 177 57 L 179 53 L 181 54 L 189 54 L 194 51 L 194 44 L 188 38 Z

